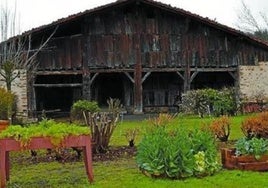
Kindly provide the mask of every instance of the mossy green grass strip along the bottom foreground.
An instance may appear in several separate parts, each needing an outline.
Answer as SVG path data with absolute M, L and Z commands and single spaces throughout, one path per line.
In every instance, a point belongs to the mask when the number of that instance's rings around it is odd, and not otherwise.
M 135 159 L 95 162 L 94 183 L 89 184 L 82 162 L 30 164 L 12 168 L 8 187 L 267 187 L 268 173 L 222 170 L 214 176 L 185 180 L 152 179 L 141 174 Z M 252 183 L 254 182 L 254 184 Z

